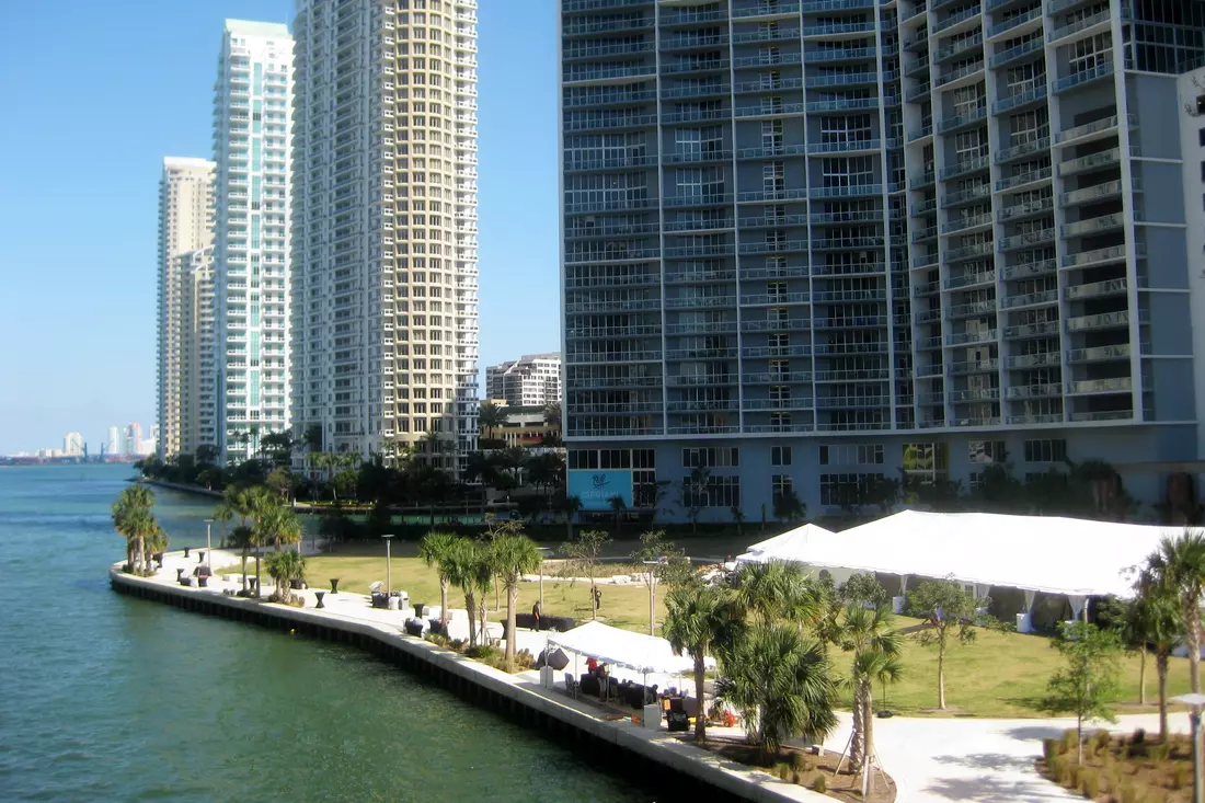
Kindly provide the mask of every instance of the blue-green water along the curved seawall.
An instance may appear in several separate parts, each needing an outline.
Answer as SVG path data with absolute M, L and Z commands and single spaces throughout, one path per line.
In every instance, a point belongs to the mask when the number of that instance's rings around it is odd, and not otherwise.
M 114 593 L 130 475 L 0 468 L 0 801 L 652 799 L 359 650 Z M 212 504 L 155 493 L 204 546 Z

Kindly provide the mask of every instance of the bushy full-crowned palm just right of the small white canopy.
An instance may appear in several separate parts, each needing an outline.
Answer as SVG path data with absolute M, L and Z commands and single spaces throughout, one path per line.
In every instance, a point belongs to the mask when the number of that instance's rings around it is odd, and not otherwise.
M 824 649 L 789 623 L 756 623 L 722 653 L 719 697 L 741 711 L 751 744 L 769 763 L 803 737 L 823 743 L 836 726 L 836 685 Z

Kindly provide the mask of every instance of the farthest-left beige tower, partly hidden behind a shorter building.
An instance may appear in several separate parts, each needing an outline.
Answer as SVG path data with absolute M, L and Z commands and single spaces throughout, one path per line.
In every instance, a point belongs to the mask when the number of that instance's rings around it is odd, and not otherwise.
M 180 452 L 181 277 L 176 257 L 205 248 L 213 239 L 213 163 L 165 157 L 159 177 L 158 268 L 158 447 Z M 116 452 L 114 452 L 116 453 Z

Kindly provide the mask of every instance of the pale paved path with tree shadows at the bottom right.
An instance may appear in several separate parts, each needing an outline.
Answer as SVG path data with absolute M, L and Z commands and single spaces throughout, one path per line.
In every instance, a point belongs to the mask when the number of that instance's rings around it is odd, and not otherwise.
M 825 746 L 840 751 L 850 738 L 848 714 Z M 950 803 L 950 801 L 1046 803 L 1083 801 L 1078 795 L 1047 781 L 1034 769 L 1042 739 L 1059 737 L 1075 720 L 974 720 L 909 719 L 875 720 L 875 746 L 880 761 L 899 784 L 898 803 Z M 1086 727 L 1087 732 L 1099 726 Z M 1157 733 L 1154 714 L 1123 716 L 1110 729 Z M 1172 731 L 1189 731 L 1188 715 L 1171 714 Z

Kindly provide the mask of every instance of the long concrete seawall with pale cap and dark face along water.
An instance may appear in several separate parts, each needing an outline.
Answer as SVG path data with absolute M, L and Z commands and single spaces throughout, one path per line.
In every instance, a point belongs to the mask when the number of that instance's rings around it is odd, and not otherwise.
M 360 647 L 427 682 L 587 751 L 601 768 L 622 767 L 627 774 L 652 781 L 674 799 L 766 803 L 831 799 L 766 773 L 740 768 L 665 731 L 600 719 L 584 702 L 406 635 L 396 626 L 355 620 L 327 609 L 289 608 L 233 597 L 214 588 L 186 587 L 163 575 L 137 578 L 122 572 L 120 564 L 110 569 L 110 581 L 114 591 L 131 597 Z

